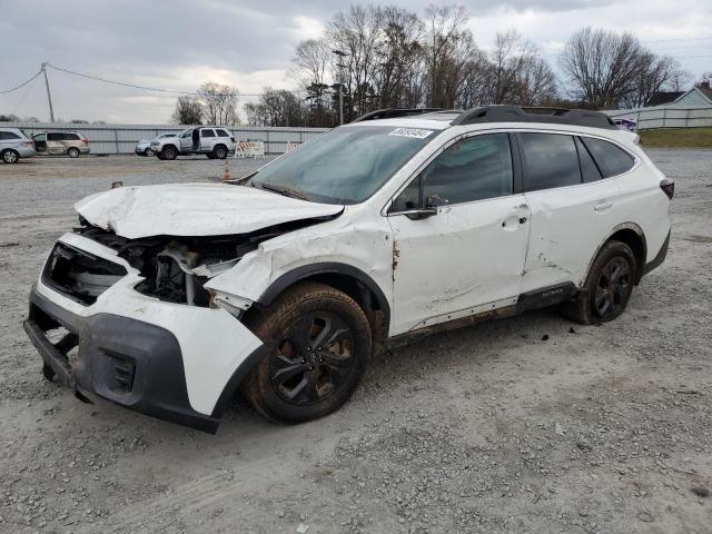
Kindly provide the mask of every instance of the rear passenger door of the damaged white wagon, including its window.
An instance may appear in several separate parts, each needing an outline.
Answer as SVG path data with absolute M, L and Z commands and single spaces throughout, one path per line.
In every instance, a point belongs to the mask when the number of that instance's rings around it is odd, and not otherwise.
M 522 131 L 518 140 L 532 209 L 522 293 L 581 286 L 593 255 L 615 226 L 619 185 L 604 177 L 578 136 Z

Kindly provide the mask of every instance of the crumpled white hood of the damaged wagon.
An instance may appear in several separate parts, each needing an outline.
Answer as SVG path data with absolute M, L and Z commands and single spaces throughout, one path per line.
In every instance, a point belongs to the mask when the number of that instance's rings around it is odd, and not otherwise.
M 254 187 L 179 184 L 119 187 L 86 197 L 75 209 L 95 226 L 136 239 L 247 234 L 280 222 L 337 215 L 344 207 Z

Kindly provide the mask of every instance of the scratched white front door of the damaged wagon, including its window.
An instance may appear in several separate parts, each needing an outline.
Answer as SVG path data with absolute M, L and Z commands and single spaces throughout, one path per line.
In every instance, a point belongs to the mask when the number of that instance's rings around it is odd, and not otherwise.
M 446 148 L 395 198 L 393 335 L 513 305 L 528 240 L 507 134 Z M 422 218 L 416 208 L 435 208 Z

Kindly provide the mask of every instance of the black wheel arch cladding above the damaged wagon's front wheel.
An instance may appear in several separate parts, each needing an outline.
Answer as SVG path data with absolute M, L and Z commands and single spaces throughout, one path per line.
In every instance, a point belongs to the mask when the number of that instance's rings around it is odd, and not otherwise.
M 382 312 L 383 324 L 385 325 L 383 335 L 387 337 L 387 329 L 390 324 L 388 299 L 370 276 L 352 265 L 329 261 L 297 267 L 277 278 L 261 294 L 257 303 L 263 307 L 267 307 L 287 288 L 306 280 L 319 281 L 345 293 L 356 300 L 369 318 L 374 312 Z

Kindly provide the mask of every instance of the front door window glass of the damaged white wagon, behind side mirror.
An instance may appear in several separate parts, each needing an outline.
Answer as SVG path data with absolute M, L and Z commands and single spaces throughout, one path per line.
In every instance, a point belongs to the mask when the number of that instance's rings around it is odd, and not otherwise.
M 510 137 L 507 134 L 487 134 L 457 141 L 437 156 L 421 177 L 423 198 L 434 198 L 435 205 L 511 195 Z

